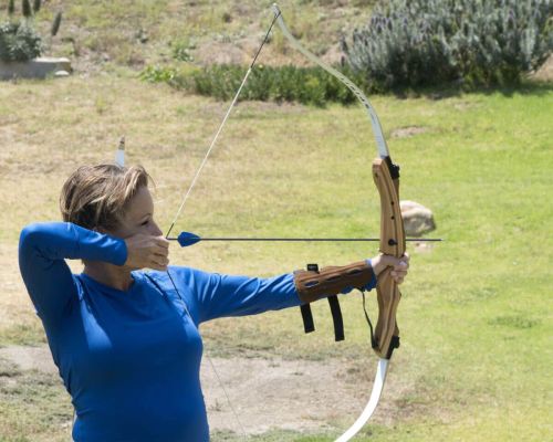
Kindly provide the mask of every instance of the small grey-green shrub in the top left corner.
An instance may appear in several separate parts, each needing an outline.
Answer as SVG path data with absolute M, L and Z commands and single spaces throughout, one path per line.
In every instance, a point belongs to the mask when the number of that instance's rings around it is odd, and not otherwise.
M 24 62 L 35 59 L 42 54 L 44 44 L 42 38 L 33 28 L 33 17 L 42 8 L 40 0 L 33 1 L 33 8 L 29 0 L 21 2 L 22 20 L 14 19 L 15 3 L 10 0 L 8 3 L 8 20 L 0 21 L 0 61 Z M 58 33 L 61 22 L 61 12 L 55 18 L 51 30 L 51 35 Z

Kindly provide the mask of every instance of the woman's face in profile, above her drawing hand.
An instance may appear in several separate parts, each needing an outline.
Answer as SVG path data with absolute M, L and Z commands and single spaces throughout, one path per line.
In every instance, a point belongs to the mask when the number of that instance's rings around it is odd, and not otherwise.
M 163 235 L 154 221 L 154 200 L 146 186 L 138 189 L 122 217 L 121 225 L 111 233 L 123 239 L 138 233 L 152 236 Z

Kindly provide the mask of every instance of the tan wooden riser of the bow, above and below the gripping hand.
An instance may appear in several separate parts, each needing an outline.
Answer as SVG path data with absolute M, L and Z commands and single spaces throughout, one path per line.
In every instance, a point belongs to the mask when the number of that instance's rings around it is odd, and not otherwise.
M 399 207 L 399 182 L 393 180 L 388 165 L 377 158 L 373 161 L 373 179 L 380 196 L 380 252 L 401 257 L 405 253 L 405 231 Z M 401 293 L 390 276 L 392 269 L 378 275 L 376 294 L 378 302 L 378 320 L 375 327 L 375 352 L 389 359 L 399 338 L 396 324 L 396 312 Z M 396 337 L 397 339 L 394 339 Z

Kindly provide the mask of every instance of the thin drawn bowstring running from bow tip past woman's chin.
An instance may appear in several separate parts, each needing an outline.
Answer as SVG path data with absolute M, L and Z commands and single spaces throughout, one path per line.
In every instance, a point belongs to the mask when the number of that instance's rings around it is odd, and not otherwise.
M 253 57 L 250 66 L 248 67 L 248 71 L 246 72 L 246 75 L 244 75 L 244 77 L 242 80 L 242 83 L 240 83 L 240 87 L 238 88 L 237 93 L 234 94 L 234 97 L 232 98 L 232 102 L 230 103 L 230 106 L 229 106 L 227 113 L 225 114 L 225 117 L 222 118 L 222 122 L 219 125 L 219 128 L 217 129 L 217 131 L 216 131 L 216 134 L 213 136 L 213 139 L 211 140 L 211 144 L 209 145 L 209 148 L 207 149 L 206 155 L 204 156 L 204 159 L 201 160 L 201 164 L 200 164 L 199 168 L 196 171 L 196 173 L 195 173 L 195 176 L 192 178 L 192 181 L 190 182 L 190 186 L 188 187 L 188 190 L 186 191 L 185 197 L 182 198 L 182 201 L 180 203 L 180 207 L 178 208 L 177 214 L 175 215 L 175 218 L 174 218 L 174 220 L 173 220 L 173 222 L 171 222 L 171 224 L 169 227 L 169 230 L 167 231 L 167 234 L 165 235 L 165 238 L 169 238 L 169 234 L 171 233 L 173 228 L 175 227 L 175 224 L 176 224 L 178 218 L 180 217 L 180 214 L 182 213 L 182 210 L 185 209 L 186 202 L 188 201 L 188 197 L 190 196 L 190 192 L 192 191 L 194 187 L 196 186 L 196 182 L 198 181 L 198 178 L 199 178 L 199 176 L 201 173 L 201 170 L 204 169 L 204 166 L 206 166 L 206 162 L 207 162 L 207 160 L 209 158 L 209 155 L 211 154 L 211 150 L 213 150 L 213 147 L 215 147 L 215 145 L 216 145 L 218 138 L 219 138 L 219 135 L 221 134 L 222 128 L 223 128 L 225 124 L 227 123 L 227 119 L 229 118 L 230 113 L 231 113 L 232 108 L 234 107 L 234 105 L 236 105 L 236 103 L 238 101 L 238 97 L 240 96 L 240 93 L 242 92 L 242 88 L 246 85 L 246 82 L 248 81 L 248 77 L 251 74 L 253 65 L 255 64 L 255 61 L 258 60 L 258 56 L 261 53 L 261 50 L 263 49 L 263 46 L 268 42 L 269 35 L 271 34 L 271 30 L 273 29 L 273 25 L 276 22 L 276 19 L 279 17 L 280 17 L 280 13 L 274 15 L 274 18 L 273 18 L 273 20 L 271 22 L 271 25 L 267 30 L 265 36 L 264 36 L 263 41 L 261 42 L 261 44 L 260 44 L 260 46 L 258 49 L 258 52 L 255 53 L 255 56 Z M 178 297 L 182 302 L 182 304 L 185 306 L 185 309 L 186 309 L 186 313 L 188 314 L 188 316 L 190 316 L 190 313 L 188 312 L 188 308 L 186 306 L 186 302 L 182 298 L 182 296 L 180 295 L 180 292 L 178 291 L 177 285 L 175 284 L 175 281 L 173 280 L 173 276 L 170 275 L 168 269 L 167 269 L 167 276 L 169 276 L 169 280 L 170 280 L 171 284 L 173 284 L 173 287 L 175 288 L 175 292 L 177 293 Z M 242 431 L 242 434 L 243 434 L 244 439 L 248 439 L 248 435 L 247 435 L 246 430 L 244 430 L 244 428 L 242 425 L 242 422 L 238 418 L 238 413 L 234 410 L 234 407 L 232 406 L 232 402 L 230 401 L 230 397 L 229 397 L 229 394 L 227 392 L 227 389 L 225 388 L 225 385 L 222 383 L 221 378 L 220 378 L 218 371 L 215 368 L 213 361 L 211 360 L 211 358 L 209 357 L 209 355 L 206 355 L 206 357 L 207 357 L 207 359 L 209 361 L 209 365 L 211 366 L 211 370 L 213 371 L 215 376 L 217 377 L 217 380 L 218 380 L 219 385 L 222 388 L 225 397 L 227 398 L 227 402 L 228 402 L 228 404 L 229 404 L 229 407 L 230 407 L 230 409 L 232 411 L 232 414 L 234 415 L 234 419 L 237 420 L 237 422 L 238 422 L 238 424 L 240 427 L 240 430 Z

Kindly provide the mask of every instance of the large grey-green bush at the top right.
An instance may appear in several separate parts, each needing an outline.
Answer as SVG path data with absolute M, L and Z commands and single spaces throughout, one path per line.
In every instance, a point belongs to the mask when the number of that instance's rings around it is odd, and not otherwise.
M 343 50 L 380 88 L 515 84 L 551 54 L 552 13 L 551 0 L 380 1 Z

